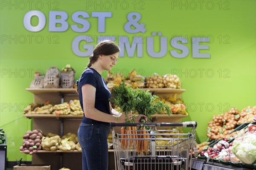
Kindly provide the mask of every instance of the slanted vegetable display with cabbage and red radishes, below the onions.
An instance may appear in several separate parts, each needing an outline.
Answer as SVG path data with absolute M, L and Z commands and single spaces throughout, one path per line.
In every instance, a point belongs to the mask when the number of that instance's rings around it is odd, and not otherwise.
M 220 163 L 228 164 L 230 162 L 234 166 L 252 167 L 252 164 L 256 162 L 255 124 L 256 122 L 253 122 L 241 130 L 233 132 L 232 137 L 223 138 L 212 147 L 205 145 L 206 143 L 201 144 L 201 147 L 204 147 L 205 150 L 201 151 L 199 149 L 200 156 Z

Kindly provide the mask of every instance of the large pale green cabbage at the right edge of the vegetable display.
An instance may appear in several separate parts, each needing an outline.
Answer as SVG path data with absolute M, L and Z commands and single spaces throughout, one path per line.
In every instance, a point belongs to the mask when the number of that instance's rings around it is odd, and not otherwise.
M 232 152 L 244 163 L 253 164 L 256 160 L 256 134 L 246 133 L 241 139 L 235 139 Z

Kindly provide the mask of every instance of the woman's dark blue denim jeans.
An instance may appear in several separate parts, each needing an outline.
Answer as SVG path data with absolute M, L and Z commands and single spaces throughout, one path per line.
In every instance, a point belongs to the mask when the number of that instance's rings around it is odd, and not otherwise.
M 108 170 L 110 126 L 81 123 L 77 132 L 82 148 L 83 170 Z

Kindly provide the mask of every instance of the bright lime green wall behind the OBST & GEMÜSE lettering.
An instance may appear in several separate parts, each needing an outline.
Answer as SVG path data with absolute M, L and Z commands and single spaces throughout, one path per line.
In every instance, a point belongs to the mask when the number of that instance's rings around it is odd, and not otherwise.
M 126 1 L 129 4 L 128 9 L 125 9 L 125 4 L 120 6 L 122 1 L 118 1 L 119 5 L 117 4 L 116 9 L 114 3 L 108 1 L 112 3 L 112 8 L 109 10 L 108 4 L 104 5 L 104 3 L 102 3 L 102 9 L 100 9 L 101 6 L 87 7 L 88 2 L 100 4 L 104 1 L 33 1 L 31 7 L 26 1 L 24 1 L 26 7 L 18 3 L 20 1 L 14 1 L 13 6 L 10 2 L 1 1 L 0 11 L 0 127 L 4 128 L 8 135 L 9 161 L 20 158 L 31 160 L 31 156 L 19 153 L 19 139 L 26 130 L 31 129 L 31 120 L 23 117 L 23 108 L 33 101 L 33 95 L 25 88 L 29 87 L 34 72 L 41 69 L 45 73 L 49 66 L 56 65 L 61 69 L 66 64 L 70 64 L 75 68 L 76 79 L 78 79 L 86 67 L 88 57 L 77 57 L 71 48 L 73 39 L 78 35 L 127 35 L 130 40 L 134 35 L 143 35 L 145 37 L 143 57 L 136 57 L 136 53 L 135 57 L 127 57 L 125 53 L 125 57 L 120 57 L 114 68 L 120 71 L 142 69 L 141 73 L 144 76 L 154 72 L 163 75 L 178 71 L 177 76 L 181 79 L 182 88 L 186 89 L 183 100 L 189 113 L 183 121 L 198 122 L 196 133 L 198 139 L 202 141 L 206 140 L 207 122 L 214 114 L 223 113 L 233 106 L 241 110 L 248 105 L 256 104 L 256 1 L 204 1 L 201 6 L 198 1 L 193 1 L 197 3 L 197 7 L 191 3 L 192 1 Z M 39 32 L 27 31 L 23 26 L 24 15 L 28 11 L 38 10 L 41 4 L 43 6 L 40 11 L 46 15 L 47 19 L 45 28 Z M 112 17 L 106 19 L 105 33 L 97 32 L 98 20 L 95 17 L 87 19 L 91 27 L 85 33 L 76 33 L 70 27 L 65 32 L 49 32 L 49 11 L 67 12 L 69 25 L 75 24 L 71 18 L 75 11 L 86 11 L 90 16 L 92 11 L 111 11 Z M 127 23 L 126 16 L 134 11 L 141 14 L 139 23 L 145 24 L 147 29 L 145 33 L 125 32 L 123 27 Z M 37 22 L 36 18 L 32 18 L 33 24 L 36 25 Z M 158 31 L 168 38 L 168 52 L 162 58 L 152 58 L 147 54 L 145 40 L 146 37 L 151 36 L 152 32 Z M 17 42 L 3 40 L 6 36 L 15 39 L 15 35 L 17 35 Z M 210 53 L 210 58 L 192 58 L 191 38 L 185 44 L 189 48 L 189 55 L 182 59 L 172 57 L 169 51 L 174 48 L 169 42 L 177 35 L 210 37 L 209 43 L 203 43 L 209 45 L 209 50 L 200 51 Z M 24 36 L 27 40 L 21 43 L 24 41 L 21 39 Z M 31 43 L 29 36 L 34 36 Z M 36 36 L 43 37 L 44 41 L 36 42 Z M 51 39 L 50 42 L 49 39 Z M 54 40 L 58 43 L 54 43 Z M 159 51 L 159 37 L 154 36 L 154 40 L 154 49 Z

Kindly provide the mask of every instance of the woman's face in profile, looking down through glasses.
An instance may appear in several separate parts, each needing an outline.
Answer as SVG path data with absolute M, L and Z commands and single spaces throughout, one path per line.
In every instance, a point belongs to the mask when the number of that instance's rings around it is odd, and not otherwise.
M 111 70 L 111 68 L 116 65 L 118 61 L 119 52 L 111 55 L 102 55 L 101 56 L 101 65 L 104 70 Z

